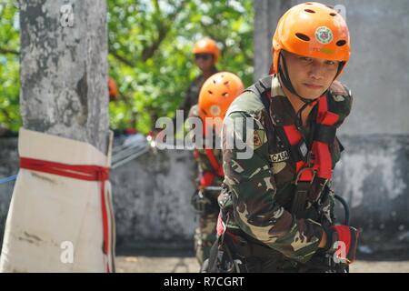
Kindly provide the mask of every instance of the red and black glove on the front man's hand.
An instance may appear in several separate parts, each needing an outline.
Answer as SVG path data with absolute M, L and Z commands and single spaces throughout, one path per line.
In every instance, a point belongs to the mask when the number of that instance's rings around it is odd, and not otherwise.
M 335 263 L 351 264 L 355 260 L 359 231 L 352 226 L 331 226 L 325 229 L 325 249 L 334 254 Z

